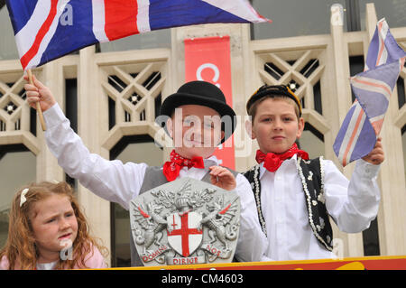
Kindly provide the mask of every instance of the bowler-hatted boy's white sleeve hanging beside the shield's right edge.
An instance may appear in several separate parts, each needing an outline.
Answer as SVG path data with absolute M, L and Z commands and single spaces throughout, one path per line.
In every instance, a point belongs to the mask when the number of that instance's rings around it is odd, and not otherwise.
M 269 261 L 271 259 L 264 256 L 268 241 L 259 224 L 251 185 L 242 174 L 238 174 L 235 181 L 235 191 L 241 202 L 240 232 L 235 257 L 242 262 Z

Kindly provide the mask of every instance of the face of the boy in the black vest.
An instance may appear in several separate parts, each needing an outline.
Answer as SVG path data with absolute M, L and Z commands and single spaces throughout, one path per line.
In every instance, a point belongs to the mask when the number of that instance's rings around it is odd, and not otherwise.
M 300 138 L 304 120 L 294 107 L 282 98 L 267 98 L 261 102 L 253 120 L 252 138 L 257 139 L 263 153 L 284 153 Z

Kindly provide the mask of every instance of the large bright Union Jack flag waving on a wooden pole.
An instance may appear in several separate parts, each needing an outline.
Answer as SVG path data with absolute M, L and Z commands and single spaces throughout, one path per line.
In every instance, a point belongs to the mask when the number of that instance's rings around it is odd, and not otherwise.
M 23 69 L 137 33 L 269 20 L 247 0 L 6 0 Z

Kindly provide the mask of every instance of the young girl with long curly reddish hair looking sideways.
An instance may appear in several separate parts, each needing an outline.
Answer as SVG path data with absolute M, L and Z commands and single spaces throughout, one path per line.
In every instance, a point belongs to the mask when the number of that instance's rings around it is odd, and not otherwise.
M 0 270 L 105 268 L 106 255 L 68 183 L 33 183 L 15 194 Z

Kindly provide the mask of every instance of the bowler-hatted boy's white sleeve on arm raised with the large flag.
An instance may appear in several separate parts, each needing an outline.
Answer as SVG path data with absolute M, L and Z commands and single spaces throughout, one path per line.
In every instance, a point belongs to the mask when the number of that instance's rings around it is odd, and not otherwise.
M 58 104 L 43 113 L 47 130 L 46 143 L 58 163 L 70 177 L 97 196 L 113 201 L 125 209 L 143 185 L 147 164 L 108 161 L 90 153 L 80 137 L 70 128 Z

